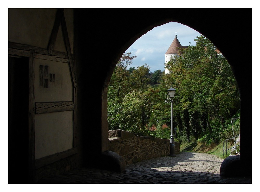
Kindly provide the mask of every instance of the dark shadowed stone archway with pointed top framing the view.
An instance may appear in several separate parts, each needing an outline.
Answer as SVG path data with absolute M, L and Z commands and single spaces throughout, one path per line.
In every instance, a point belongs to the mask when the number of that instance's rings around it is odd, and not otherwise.
M 174 21 L 206 36 L 230 63 L 241 98 L 239 165 L 247 164 L 246 174 L 251 175 L 252 94 L 249 90 L 252 85 L 251 11 L 251 9 L 99 9 L 98 11 L 76 9 L 75 56 L 77 95 L 80 104 L 77 107 L 77 132 L 80 133 L 77 137 L 84 163 L 100 167 L 102 162 L 107 160 L 101 157 L 101 154 L 108 150 L 106 93 L 117 61 L 125 50 L 147 31 Z M 243 36 L 240 33 L 241 23 L 243 29 L 247 29 L 243 30 Z M 247 57 L 238 55 L 238 50 L 241 49 L 243 55 Z M 94 74 L 91 78 L 94 82 L 89 82 L 88 73 Z M 91 110 L 91 113 L 87 116 L 88 110 Z M 84 137 L 89 135 L 95 138 L 86 140 Z

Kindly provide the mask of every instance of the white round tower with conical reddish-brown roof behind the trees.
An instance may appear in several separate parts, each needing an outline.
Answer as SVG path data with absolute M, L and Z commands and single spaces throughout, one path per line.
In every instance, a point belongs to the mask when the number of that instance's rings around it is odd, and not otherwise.
M 178 56 L 178 54 L 180 54 L 180 50 L 179 48 L 187 48 L 188 46 L 182 46 L 179 42 L 179 40 L 177 39 L 177 35 L 175 35 L 174 40 L 172 41 L 172 44 L 170 45 L 170 47 L 168 48 L 168 50 L 165 53 L 165 63 L 167 63 L 168 61 L 170 61 L 171 56 Z M 165 73 L 169 73 L 168 69 L 165 69 Z

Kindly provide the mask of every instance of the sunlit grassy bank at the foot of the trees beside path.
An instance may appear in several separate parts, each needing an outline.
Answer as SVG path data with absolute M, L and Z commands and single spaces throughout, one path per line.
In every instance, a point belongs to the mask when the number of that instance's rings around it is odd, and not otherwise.
M 228 148 L 230 148 L 231 145 L 232 144 L 228 144 Z M 226 152 L 224 152 L 224 156 L 223 156 L 222 142 L 220 142 L 219 144 L 212 143 L 210 145 L 201 142 L 196 142 L 196 141 L 190 143 L 188 142 L 181 143 L 180 151 L 207 153 L 207 154 L 216 155 L 221 159 L 225 159 L 230 155 L 230 150 L 228 150 L 227 155 Z

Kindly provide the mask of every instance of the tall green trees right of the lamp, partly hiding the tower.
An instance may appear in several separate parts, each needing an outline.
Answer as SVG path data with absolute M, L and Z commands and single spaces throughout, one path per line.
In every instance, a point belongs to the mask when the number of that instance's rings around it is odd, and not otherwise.
M 225 121 L 239 110 L 238 88 L 230 65 L 217 48 L 204 36 L 197 38 L 196 46 L 183 49 L 181 57 L 167 63 L 171 73 L 165 79 L 181 98 L 186 131 L 189 124 L 196 140 L 205 134 L 218 140 L 213 132 L 220 127 L 224 130 Z M 221 125 L 217 130 L 212 127 L 214 122 Z M 189 132 L 186 135 L 189 138 Z

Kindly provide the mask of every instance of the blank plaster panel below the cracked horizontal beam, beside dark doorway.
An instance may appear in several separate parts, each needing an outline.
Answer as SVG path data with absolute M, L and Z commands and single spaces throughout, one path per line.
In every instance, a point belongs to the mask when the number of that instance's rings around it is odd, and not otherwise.
M 35 159 L 73 147 L 73 111 L 35 114 Z

